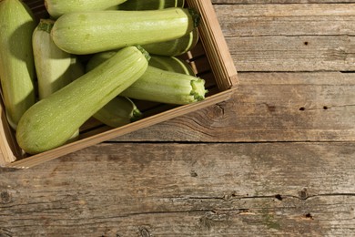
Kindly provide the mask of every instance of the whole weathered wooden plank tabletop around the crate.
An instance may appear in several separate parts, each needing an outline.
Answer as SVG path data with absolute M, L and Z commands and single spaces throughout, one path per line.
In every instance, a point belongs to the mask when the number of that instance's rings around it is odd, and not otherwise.
M 355 235 L 355 1 L 213 3 L 233 98 L 0 170 L 0 236 Z

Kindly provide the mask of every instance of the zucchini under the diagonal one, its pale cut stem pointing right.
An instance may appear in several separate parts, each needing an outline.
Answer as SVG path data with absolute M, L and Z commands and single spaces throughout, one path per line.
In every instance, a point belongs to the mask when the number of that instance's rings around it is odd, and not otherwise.
M 115 51 L 96 54 L 87 63 L 86 71 L 93 70 L 114 54 Z M 148 66 L 143 76 L 124 90 L 120 96 L 185 105 L 203 100 L 206 93 L 205 81 L 201 78 Z

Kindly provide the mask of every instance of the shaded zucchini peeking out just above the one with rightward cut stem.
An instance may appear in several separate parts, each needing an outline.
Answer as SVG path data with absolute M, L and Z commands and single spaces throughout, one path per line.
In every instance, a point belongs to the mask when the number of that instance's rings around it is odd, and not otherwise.
M 149 66 L 157 67 L 162 70 L 196 76 L 188 62 L 177 57 L 151 55 Z

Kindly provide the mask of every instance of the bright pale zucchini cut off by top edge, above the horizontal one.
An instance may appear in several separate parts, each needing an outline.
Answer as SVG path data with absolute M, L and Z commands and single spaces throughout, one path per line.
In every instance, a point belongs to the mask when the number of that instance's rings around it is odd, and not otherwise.
M 127 0 L 45 0 L 46 10 L 53 18 L 81 11 L 106 10 Z

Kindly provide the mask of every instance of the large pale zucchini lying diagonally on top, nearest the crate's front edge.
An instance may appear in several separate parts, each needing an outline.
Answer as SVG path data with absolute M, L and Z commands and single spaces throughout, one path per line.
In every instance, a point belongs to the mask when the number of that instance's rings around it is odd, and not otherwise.
M 134 83 L 147 69 L 147 52 L 128 46 L 100 66 L 29 108 L 16 139 L 29 154 L 66 143 L 84 122 Z

